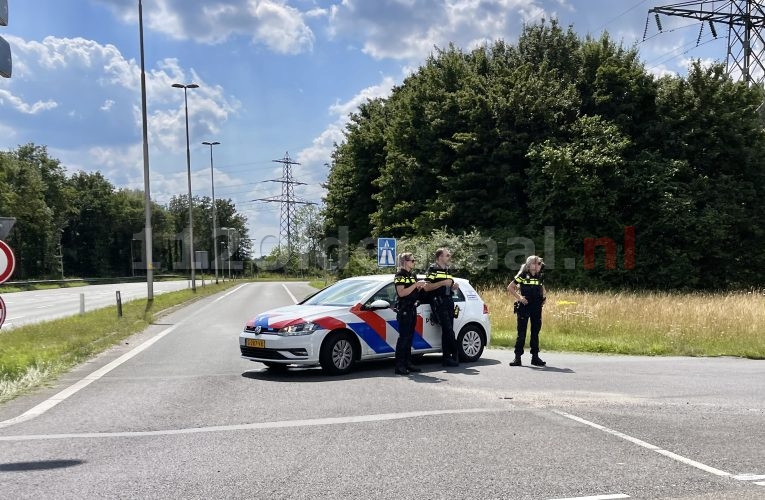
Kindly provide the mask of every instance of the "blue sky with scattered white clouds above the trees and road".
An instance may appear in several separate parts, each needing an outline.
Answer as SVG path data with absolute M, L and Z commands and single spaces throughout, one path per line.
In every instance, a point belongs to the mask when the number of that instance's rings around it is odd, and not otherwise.
M 0 149 L 46 146 L 70 173 L 100 171 L 117 188 L 143 190 L 138 0 L 9 0 L 0 28 L 13 76 L 0 78 Z M 150 192 L 187 195 L 187 91 L 191 184 L 231 199 L 248 219 L 255 254 L 278 241 L 281 160 L 295 195 L 320 203 L 334 144 L 350 113 L 391 89 L 435 47 L 515 43 L 524 24 L 558 19 L 582 36 L 604 30 L 637 44 L 656 75 L 691 60 L 724 60 L 698 22 L 661 18 L 653 0 L 143 0 Z M 717 2 L 724 3 L 724 2 Z M 648 20 L 648 23 L 646 21 Z M 644 39 L 645 35 L 645 39 Z

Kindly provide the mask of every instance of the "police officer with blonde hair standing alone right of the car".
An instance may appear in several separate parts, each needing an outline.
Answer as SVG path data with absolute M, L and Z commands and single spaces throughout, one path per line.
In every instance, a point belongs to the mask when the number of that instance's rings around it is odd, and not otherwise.
M 543 284 L 540 257 L 531 255 L 521 266 L 513 281 L 507 285 L 508 293 L 517 299 L 518 337 L 515 340 L 515 359 L 510 366 L 521 366 L 521 356 L 526 343 L 526 327 L 531 320 L 531 364 L 545 366 L 547 363 L 539 357 L 539 330 L 542 329 L 542 305 L 547 300 L 547 291 Z

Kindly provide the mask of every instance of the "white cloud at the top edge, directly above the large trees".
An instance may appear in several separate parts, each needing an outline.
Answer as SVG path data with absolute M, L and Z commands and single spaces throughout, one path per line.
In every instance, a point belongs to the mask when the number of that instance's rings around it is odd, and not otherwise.
M 376 59 L 418 60 L 451 42 L 512 38 L 542 18 L 551 15 L 535 0 L 343 0 L 332 7 L 330 33 L 364 38 L 363 52 Z

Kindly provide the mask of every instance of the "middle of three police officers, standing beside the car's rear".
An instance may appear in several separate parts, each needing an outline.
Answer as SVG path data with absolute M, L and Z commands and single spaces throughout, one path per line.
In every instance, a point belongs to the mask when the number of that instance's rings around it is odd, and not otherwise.
M 425 275 L 425 291 L 430 298 L 430 308 L 441 325 L 441 350 L 444 366 L 459 366 L 459 351 L 454 338 L 454 299 L 452 292 L 459 286 L 449 273 L 452 254 L 448 248 L 436 250 L 436 261 Z

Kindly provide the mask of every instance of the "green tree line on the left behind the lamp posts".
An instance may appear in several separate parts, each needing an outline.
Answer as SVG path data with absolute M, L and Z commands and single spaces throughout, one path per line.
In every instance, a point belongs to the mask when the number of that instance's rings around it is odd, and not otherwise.
M 194 197 L 194 250 L 207 251 L 212 266 L 212 203 Z M 231 200 L 216 200 L 218 227 L 240 236 L 235 260 L 250 247 L 246 219 Z M 44 146 L 27 144 L 0 152 L 0 216 L 15 217 L 6 241 L 16 255 L 14 280 L 140 275 L 144 243 L 143 191 L 117 189 L 99 173 L 67 175 Z M 188 197 L 152 203 L 156 272 L 187 273 Z M 226 236 L 218 238 L 226 254 Z M 234 245 L 232 245 L 233 250 Z M 133 269 L 136 262 L 136 269 Z

